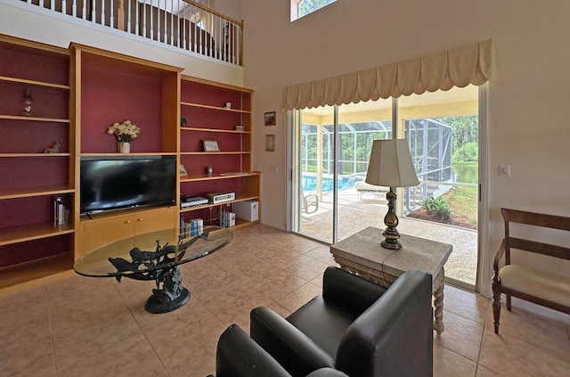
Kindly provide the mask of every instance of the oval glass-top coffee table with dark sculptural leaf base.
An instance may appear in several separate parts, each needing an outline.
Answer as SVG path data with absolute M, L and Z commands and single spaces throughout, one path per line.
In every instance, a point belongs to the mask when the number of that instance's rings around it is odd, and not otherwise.
M 182 285 L 179 265 L 224 248 L 233 238 L 227 228 L 204 227 L 204 233 L 179 238 L 178 229 L 139 234 L 112 242 L 77 260 L 73 269 L 91 277 L 122 277 L 154 280 L 157 288 L 144 308 L 150 313 L 167 313 L 190 299 L 191 293 Z

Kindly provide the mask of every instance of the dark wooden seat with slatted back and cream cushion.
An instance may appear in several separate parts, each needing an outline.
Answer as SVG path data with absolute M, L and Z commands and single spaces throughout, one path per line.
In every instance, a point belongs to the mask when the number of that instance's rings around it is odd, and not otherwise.
M 511 263 L 511 249 L 524 250 L 544 256 L 570 260 L 570 248 L 532 240 L 511 237 L 509 224 L 542 226 L 570 231 L 570 217 L 544 215 L 515 209 L 501 209 L 505 220 L 505 238 L 493 262 L 493 320 L 495 333 L 499 333 L 501 293 L 507 296 L 507 309 L 511 310 L 511 296 L 525 299 L 543 307 L 570 314 L 570 275 L 562 276 L 538 268 Z M 504 266 L 500 267 L 504 256 Z

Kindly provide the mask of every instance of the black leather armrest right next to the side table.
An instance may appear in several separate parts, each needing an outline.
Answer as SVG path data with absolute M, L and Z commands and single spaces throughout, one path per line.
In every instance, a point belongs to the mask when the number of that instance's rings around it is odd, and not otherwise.
M 322 297 L 354 316 L 360 316 L 386 292 L 386 288 L 334 266 L 327 267 L 322 278 Z

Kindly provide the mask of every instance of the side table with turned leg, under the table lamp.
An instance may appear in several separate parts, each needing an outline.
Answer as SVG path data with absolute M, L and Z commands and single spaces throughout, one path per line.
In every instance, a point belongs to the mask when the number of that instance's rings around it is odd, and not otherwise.
M 340 268 L 390 286 L 408 270 L 423 270 L 432 275 L 437 335 L 444 332 L 444 264 L 452 253 L 452 245 L 401 234 L 401 250 L 380 246 L 382 230 L 372 226 L 330 246 Z

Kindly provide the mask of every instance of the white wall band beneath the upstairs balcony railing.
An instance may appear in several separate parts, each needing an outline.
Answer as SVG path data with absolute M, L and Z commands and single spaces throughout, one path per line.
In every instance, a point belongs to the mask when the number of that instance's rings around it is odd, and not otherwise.
M 30 12 L 30 8 L 34 12 Z M 90 25 L 89 22 L 76 20 L 68 15 L 54 14 L 16 0 L 0 0 L 0 33 L 64 48 L 71 42 L 91 45 L 183 68 L 184 75 L 235 86 L 243 85 L 241 67 L 196 54 L 180 53 L 175 47 L 163 46 L 147 38 L 101 25 Z

